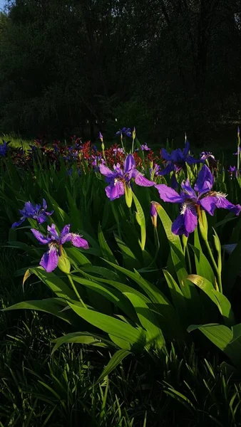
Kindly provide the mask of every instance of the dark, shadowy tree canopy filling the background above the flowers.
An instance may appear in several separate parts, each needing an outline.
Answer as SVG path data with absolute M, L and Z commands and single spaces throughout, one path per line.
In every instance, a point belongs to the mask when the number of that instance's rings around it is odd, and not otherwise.
M 199 132 L 240 119 L 240 0 L 15 0 L 0 129 Z

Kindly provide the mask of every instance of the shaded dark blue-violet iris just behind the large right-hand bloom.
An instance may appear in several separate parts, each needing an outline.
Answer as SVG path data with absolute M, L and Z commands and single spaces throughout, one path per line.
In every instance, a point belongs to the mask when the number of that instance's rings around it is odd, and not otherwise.
M 168 175 L 170 172 L 175 170 L 175 167 L 181 169 L 185 163 L 203 163 L 202 159 L 195 159 L 193 156 L 188 154 L 190 150 L 190 144 L 188 141 L 185 142 L 184 149 L 174 149 L 171 154 L 167 152 L 165 148 L 161 149 L 163 159 L 166 161 L 165 169 L 159 172 L 159 175 Z

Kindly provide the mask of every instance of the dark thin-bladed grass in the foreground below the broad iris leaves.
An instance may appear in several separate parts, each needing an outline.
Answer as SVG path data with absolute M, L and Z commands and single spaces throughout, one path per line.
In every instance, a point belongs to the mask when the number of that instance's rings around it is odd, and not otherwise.
M 14 272 L 26 263 L 1 248 L 2 306 L 23 299 Z M 46 288 L 26 285 L 24 299 Z M 151 357 L 134 356 L 94 386 L 107 350 L 66 344 L 51 356 L 64 325 L 45 313 L 0 314 L 0 426 L 168 427 L 239 426 L 241 383 L 193 346 L 175 342 Z

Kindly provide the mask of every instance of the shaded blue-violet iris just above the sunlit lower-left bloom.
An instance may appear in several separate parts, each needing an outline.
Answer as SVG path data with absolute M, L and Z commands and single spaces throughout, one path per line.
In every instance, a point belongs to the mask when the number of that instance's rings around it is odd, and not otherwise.
M 21 214 L 20 221 L 13 223 L 11 228 L 21 226 L 21 223 L 23 223 L 26 218 L 36 219 L 39 224 L 47 221 L 48 216 L 52 215 L 53 211 L 47 212 L 46 209 L 47 204 L 45 199 L 43 199 L 43 206 L 41 206 L 41 204 L 34 205 L 31 203 L 31 201 L 26 201 L 26 204 L 24 204 L 24 209 L 19 209 L 19 212 Z

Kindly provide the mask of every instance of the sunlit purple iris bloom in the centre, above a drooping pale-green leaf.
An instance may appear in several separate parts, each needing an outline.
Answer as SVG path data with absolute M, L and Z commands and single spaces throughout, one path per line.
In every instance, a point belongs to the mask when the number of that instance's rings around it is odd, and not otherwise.
M 104 164 L 100 164 L 100 172 L 106 176 L 108 186 L 106 187 L 106 196 L 111 200 L 118 199 L 125 194 L 125 186 L 130 186 L 131 179 L 134 179 L 135 184 L 140 186 L 153 186 L 155 183 L 149 181 L 140 172 L 135 169 L 135 159 L 132 154 L 128 154 L 125 158 L 123 168 L 120 164 L 114 165 L 114 170 L 111 171 Z

